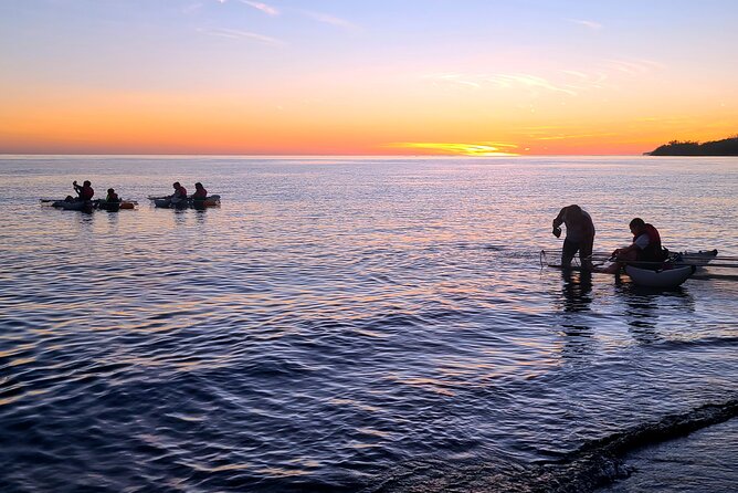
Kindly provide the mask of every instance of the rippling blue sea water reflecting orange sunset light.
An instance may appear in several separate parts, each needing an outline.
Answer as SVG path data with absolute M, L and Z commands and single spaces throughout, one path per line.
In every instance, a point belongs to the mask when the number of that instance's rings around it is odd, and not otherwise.
M 39 203 L 74 179 L 139 207 Z M 152 208 L 175 180 L 222 206 Z M 2 157 L 0 490 L 635 478 L 636 449 L 738 415 L 738 282 L 651 292 L 539 253 L 579 203 L 595 251 L 639 216 L 736 258 L 736 158 Z

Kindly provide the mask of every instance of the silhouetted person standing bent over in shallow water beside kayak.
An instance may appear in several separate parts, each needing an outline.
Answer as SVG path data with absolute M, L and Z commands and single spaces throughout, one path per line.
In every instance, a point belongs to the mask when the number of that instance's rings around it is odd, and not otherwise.
M 561 237 L 561 224 L 567 227 L 567 235 L 561 246 L 561 266 L 571 265 L 571 259 L 579 252 L 581 265 L 592 269 L 592 246 L 594 244 L 594 223 L 592 217 L 576 203 L 561 208 L 554 219 L 554 235 Z

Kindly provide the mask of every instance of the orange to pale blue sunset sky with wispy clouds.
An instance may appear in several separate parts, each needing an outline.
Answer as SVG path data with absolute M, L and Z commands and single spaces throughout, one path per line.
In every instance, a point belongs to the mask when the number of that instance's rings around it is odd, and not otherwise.
M 635 155 L 738 134 L 734 0 L 0 0 L 0 154 Z

